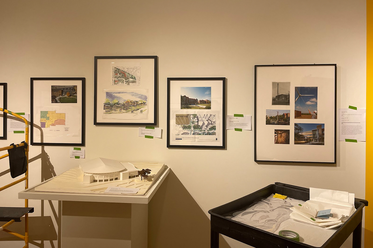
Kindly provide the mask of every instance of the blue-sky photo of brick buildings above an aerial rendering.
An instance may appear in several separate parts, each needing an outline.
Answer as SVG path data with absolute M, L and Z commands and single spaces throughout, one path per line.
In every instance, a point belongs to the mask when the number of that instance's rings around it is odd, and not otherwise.
M 181 87 L 180 109 L 211 109 L 211 87 Z

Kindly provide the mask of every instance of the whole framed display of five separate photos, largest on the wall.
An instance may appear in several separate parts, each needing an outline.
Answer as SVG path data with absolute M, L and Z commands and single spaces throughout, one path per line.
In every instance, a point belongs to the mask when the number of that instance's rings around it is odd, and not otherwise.
M 336 163 L 336 64 L 256 65 L 256 162 Z

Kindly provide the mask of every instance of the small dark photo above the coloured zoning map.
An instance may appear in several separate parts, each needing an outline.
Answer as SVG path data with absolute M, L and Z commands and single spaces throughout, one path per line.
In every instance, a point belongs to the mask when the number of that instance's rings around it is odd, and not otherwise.
M 51 103 L 77 103 L 76 85 L 52 85 Z

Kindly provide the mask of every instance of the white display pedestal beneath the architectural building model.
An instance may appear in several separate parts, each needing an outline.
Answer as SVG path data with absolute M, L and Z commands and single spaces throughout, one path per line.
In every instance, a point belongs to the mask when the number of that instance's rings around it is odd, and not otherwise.
M 62 248 L 147 248 L 148 203 L 169 172 L 166 167 L 144 196 L 35 191 L 43 182 L 18 198 L 62 201 Z

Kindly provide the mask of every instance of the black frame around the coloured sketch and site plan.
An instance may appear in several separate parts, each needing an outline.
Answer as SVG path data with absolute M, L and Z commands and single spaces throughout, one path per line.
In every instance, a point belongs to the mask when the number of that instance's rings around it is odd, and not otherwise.
M 154 120 L 153 122 L 98 122 L 97 121 L 97 61 L 98 59 L 154 59 Z M 95 56 L 94 57 L 94 125 L 96 126 L 156 126 L 158 102 L 158 56 Z

